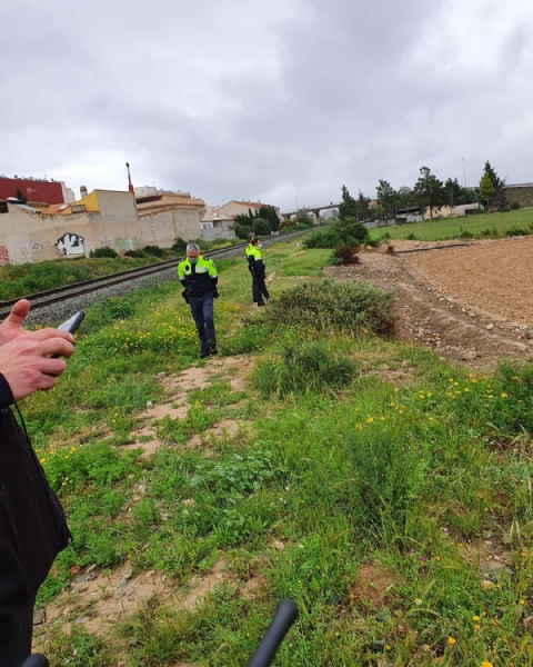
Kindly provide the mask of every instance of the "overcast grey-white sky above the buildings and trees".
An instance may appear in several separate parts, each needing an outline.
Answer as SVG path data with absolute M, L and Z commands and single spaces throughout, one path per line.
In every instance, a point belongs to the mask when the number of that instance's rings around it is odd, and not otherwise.
M 0 175 L 282 209 L 533 181 L 533 1 L 0 0 Z

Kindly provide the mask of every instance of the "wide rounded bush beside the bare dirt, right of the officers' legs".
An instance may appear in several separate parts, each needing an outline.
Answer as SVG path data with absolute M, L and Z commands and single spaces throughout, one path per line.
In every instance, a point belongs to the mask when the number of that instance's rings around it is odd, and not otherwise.
M 392 298 L 392 292 L 379 291 L 365 282 L 336 282 L 325 278 L 281 292 L 269 306 L 266 318 L 274 327 L 293 325 L 318 331 L 391 335 L 394 328 Z

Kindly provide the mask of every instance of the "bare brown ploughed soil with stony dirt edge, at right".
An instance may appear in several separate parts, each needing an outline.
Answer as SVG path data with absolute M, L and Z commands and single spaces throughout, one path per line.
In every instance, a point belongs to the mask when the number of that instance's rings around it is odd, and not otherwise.
M 441 357 L 483 369 L 502 357 L 533 359 L 533 237 L 394 249 L 325 271 L 395 290 L 399 336 Z

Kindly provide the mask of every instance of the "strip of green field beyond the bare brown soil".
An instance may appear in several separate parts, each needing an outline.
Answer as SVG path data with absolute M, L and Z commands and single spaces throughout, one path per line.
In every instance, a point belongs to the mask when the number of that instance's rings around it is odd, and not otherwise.
M 479 213 L 464 218 L 443 218 L 412 222 L 395 227 L 371 229 L 372 239 L 383 239 L 385 233 L 391 239 L 406 239 L 414 235 L 418 241 L 444 241 L 459 239 L 464 232 L 480 238 L 503 238 L 513 228 L 532 233 L 533 208 L 505 213 Z M 494 230 L 494 231 L 493 231 Z M 485 232 L 485 233 L 482 233 Z

